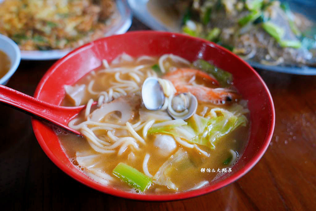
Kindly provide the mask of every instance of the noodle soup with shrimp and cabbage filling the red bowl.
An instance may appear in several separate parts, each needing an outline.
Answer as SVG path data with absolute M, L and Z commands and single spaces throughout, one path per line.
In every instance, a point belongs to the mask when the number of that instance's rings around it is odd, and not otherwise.
M 157 78 L 165 96 L 158 110 L 147 109 L 141 96 L 149 77 Z M 65 85 L 62 105 L 87 108 L 69 123 L 83 136 L 58 138 L 72 163 L 103 185 L 140 194 L 198 189 L 229 171 L 247 144 L 249 111 L 232 80 L 204 60 L 123 53 Z M 181 93 L 198 102 L 185 120 L 188 108 L 177 110 L 173 101 Z

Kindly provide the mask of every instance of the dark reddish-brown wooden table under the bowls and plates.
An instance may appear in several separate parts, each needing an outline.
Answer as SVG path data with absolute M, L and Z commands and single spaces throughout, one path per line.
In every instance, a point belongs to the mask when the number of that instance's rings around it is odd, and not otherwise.
M 131 30 L 136 29 L 147 27 L 134 20 Z M 33 95 L 54 62 L 21 61 L 7 86 Z M 76 182 L 42 151 L 30 117 L 0 105 L 0 209 L 316 210 L 316 76 L 258 72 L 276 109 L 275 132 L 267 152 L 238 181 L 175 202 L 127 200 Z

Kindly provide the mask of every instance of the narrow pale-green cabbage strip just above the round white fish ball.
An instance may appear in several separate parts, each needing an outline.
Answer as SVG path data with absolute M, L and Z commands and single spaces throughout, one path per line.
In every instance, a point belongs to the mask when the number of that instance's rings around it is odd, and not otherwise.
M 187 123 L 182 119 L 156 123 L 156 124 L 153 124 L 153 126 L 148 130 L 148 133 L 149 134 L 153 134 L 153 133 L 173 134 L 170 130 L 172 130 L 175 127 L 179 127 L 186 124 Z

